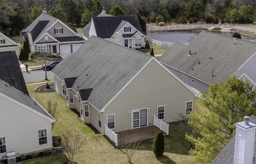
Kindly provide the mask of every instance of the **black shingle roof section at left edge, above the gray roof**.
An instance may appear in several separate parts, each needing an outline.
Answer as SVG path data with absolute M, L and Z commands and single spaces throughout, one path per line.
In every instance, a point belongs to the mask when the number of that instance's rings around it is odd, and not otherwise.
M 0 52 L 0 79 L 28 95 L 23 74 L 15 51 Z M 15 80 L 12 80 L 14 78 Z

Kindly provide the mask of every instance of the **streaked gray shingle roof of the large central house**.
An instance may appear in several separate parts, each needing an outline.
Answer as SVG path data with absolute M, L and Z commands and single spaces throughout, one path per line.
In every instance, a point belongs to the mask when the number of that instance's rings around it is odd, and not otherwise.
M 101 110 L 152 58 L 92 36 L 52 72 L 60 79 L 77 77 L 72 87 L 76 92 L 93 88 L 88 102 Z

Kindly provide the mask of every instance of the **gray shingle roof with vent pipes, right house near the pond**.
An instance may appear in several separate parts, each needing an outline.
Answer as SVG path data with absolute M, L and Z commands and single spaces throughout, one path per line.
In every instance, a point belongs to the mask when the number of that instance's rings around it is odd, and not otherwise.
M 175 43 L 158 60 L 209 84 L 219 83 L 233 75 L 240 77 L 243 72 L 238 69 L 256 52 L 253 42 L 238 38 L 235 42 L 202 31 L 187 46 Z

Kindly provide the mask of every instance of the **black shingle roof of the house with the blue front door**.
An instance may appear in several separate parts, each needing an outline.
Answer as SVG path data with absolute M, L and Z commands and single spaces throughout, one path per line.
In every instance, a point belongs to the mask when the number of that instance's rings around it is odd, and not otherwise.
M 125 25 L 129 22 L 134 28 L 143 34 L 140 22 L 137 16 L 104 16 L 104 17 L 92 17 L 94 27 L 97 36 L 100 38 L 110 38 L 118 29 L 120 24 Z M 91 21 L 91 22 L 92 22 Z M 89 24 L 91 24 L 91 22 Z M 84 32 L 90 30 L 90 26 L 87 25 L 82 29 Z

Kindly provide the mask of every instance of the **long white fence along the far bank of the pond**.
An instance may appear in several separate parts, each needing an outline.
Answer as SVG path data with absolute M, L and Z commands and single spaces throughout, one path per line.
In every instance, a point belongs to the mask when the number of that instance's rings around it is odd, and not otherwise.
M 240 27 L 240 26 L 232 26 L 232 25 L 224 25 L 224 24 L 191 24 L 191 25 L 175 25 L 175 26 L 148 26 L 147 31 L 164 31 L 164 30 L 188 30 L 193 28 L 223 28 L 223 29 L 236 29 L 242 30 L 246 32 L 254 32 L 256 33 L 256 29 Z

